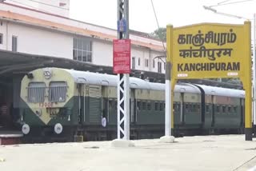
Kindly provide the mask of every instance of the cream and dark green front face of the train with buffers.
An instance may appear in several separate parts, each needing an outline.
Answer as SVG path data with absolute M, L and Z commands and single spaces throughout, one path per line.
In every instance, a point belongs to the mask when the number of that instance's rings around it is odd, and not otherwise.
M 38 69 L 22 79 L 20 118 L 22 133 L 42 133 L 42 129 L 60 134 L 74 124 L 74 82 L 65 70 Z

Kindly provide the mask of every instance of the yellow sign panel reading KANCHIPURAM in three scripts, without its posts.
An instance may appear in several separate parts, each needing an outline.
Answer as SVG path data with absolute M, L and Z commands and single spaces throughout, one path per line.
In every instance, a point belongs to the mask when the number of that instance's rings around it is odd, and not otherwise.
M 244 25 L 198 24 L 170 29 L 174 79 L 241 78 L 246 66 Z

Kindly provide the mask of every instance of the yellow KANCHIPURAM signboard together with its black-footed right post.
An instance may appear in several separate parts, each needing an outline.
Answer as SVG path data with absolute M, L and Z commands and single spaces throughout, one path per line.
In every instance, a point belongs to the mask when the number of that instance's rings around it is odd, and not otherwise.
M 203 23 L 166 28 L 166 64 L 171 66 L 170 74 L 167 73 L 171 79 L 171 89 L 174 89 L 178 79 L 240 78 L 246 90 L 246 140 L 251 141 L 250 39 L 250 22 L 244 25 Z

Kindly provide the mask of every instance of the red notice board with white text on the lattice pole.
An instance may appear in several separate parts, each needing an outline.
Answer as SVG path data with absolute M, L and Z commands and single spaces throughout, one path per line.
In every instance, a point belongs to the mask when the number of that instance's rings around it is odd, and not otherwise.
M 114 74 L 130 74 L 130 39 L 113 40 Z

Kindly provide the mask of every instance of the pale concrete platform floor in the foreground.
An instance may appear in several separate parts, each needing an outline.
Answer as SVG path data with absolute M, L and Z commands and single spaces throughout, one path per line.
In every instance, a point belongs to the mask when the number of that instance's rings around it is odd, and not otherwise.
M 256 170 L 256 140 L 244 135 L 178 137 L 133 141 L 117 148 L 111 141 L 0 146 L 3 171 L 230 171 Z

